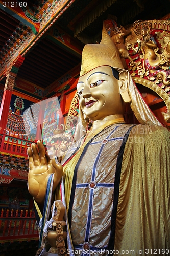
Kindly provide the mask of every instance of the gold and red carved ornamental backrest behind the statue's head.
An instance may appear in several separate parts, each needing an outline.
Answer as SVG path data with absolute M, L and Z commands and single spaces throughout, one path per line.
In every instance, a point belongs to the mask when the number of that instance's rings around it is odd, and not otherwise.
M 133 81 L 148 87 L 165 102 L 163 118 L 170 123 L 170 22 L 139 20 L 131 27 L 124 44 L 133 59 L 126 60 Z

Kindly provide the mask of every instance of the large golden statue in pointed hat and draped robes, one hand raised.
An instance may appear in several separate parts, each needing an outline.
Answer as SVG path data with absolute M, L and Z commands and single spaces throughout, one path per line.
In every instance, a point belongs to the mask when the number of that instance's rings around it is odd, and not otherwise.
M 123 255 L 133 250 L 137 255 L 142 250 L 141 255 L 151 255 L 153 249 L 169 253 L 169 132 L 123 69 L 105 27 L 100 44 L 84 47 L 77 90 L 82 126 L 85 129 L 89 120 L 93 126 L 63 166 L 46 155 L 40 141 L 38 149 L 34 143 L 28 149 L 28 188 L 39 217 L 47 198 L 63 200 L 58 189 L 63 176 L 67 230 L 75 253 Z M 129 102 L 139 125 L 124 121 Z M 51 194 L 45 198 L 49 183 Z M 48 255 L 45 232 L 37 255 Z M 72 255 L 69 232 L 67 242 L 67 253 Z M 64 255 L 61 247 L 57 252 Z

